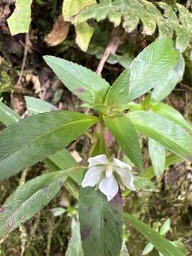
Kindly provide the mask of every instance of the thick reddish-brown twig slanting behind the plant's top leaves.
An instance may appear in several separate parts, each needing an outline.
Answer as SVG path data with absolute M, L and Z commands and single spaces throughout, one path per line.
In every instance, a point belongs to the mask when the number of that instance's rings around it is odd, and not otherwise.
M 102 55 L 102 59 L 100 60 L 100 63 L 97 67 L 96 73 L 98 75 L 101 75 L 102 69 L 107 61 L 107 58 L 109 58 L 112 53 L 116 52 L 117 48 L 119 47 L 119 44 L 121 44 L 122 41 L 124 41 L 124 31 L 122 31 L 122 28 L 119 27 L 114 28 L 112 32 L 112 38 L 108 43 L 105 52 Z

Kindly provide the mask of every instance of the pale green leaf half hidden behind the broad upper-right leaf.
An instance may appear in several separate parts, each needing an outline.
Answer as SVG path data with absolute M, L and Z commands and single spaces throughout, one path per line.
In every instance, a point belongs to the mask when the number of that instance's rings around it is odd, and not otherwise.
M 164 100 L 176 87 L 178 82 L 181 82 L 185 70 L 185 60 L 181 53 L 179 53 L 178 63 L 167 73 L 166 78 L 161 80 L 154 90 L 151 92 L 151 99 L 156 102 Z

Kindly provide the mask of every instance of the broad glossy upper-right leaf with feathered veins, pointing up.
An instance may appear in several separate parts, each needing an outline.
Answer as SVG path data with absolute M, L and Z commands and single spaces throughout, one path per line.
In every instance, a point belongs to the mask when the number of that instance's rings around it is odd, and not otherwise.
M 178 53 L 169 38 L 156 40 L 139 53 L 130 65 L 129 100 L 134 100 L 166 79 Z

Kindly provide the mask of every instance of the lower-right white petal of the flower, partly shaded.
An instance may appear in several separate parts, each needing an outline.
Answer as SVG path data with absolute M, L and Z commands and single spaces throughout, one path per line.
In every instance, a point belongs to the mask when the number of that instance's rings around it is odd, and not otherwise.
M 134 176 L 132 175 L 132 172 L 125 168 L 119 168 L 117 166 L 114 166 L 114 171 L 117 171 L 117 174 L 122 179 L 122 183 L 124 183 L 124 186 L 131 189 L 132 191 L 136 191 L 136 188 L 134 186 Z

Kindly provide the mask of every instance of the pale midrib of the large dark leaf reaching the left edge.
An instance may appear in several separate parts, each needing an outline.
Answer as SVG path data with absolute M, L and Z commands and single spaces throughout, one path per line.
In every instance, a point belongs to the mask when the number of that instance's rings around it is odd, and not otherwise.
M 96 118 L 96 117 L 95 117 Z M 77 124 L 77 123 L 80 123 L 80 122 L 90 122 L 92 119 L 81 119 L 81 120 L 77 120 L 77 121 L 73 121 L 73 122 L 69 122 L 67 124 L 63 124 L 61 125 L 60 127 L 57 127 L 53 130 L 51 130 L 50 132 L 45 132 L 43 133 L 43 135 L 40 135 L 38 137 L 36 137 L 35 139 L 32 139 L 29 143 L 27 142 L 26 144 L 23 144 L 21 147 L 19 147 L 18 149 L 14 150 L 14 151 L 11 151 L 9 154 L 6 154 L 6 156 L 4 156 L 3 159 L 0 160 L 0 164 L 1 164 L 1 161 L 4 161 L 4 159 L 8 158 L 9 156 L 11 156 L 11 154 L 15 154 L 17 151 L 23 149 L 25 146 L 28 146 L 30 144 L 33 144 L 34 142 L 38 141 L 38 139 L 41 139 L 43 137 L 46 137 L 47 135 L 49 134 L 53 134 L 54 132 L 58 131 L 59 129 L 62 129 L 64 127 L 67 127 L 69 125 L 72 125 L 72 124 Z M 96 121 L 96 119 L 95 119 Z

